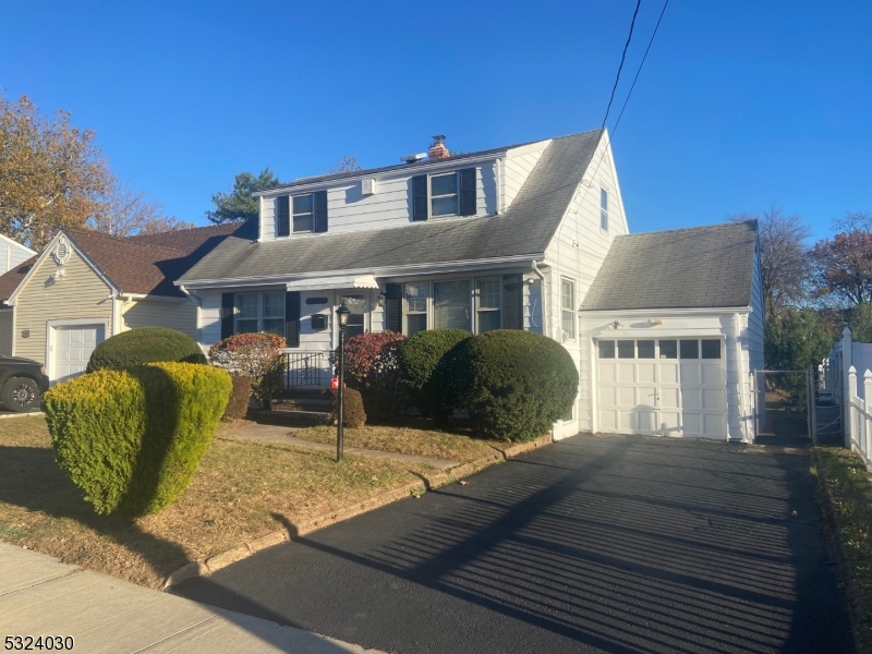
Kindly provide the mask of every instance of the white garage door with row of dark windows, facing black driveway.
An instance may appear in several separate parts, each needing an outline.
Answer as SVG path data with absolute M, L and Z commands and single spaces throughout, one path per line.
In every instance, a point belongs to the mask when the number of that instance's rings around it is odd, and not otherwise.
M 600 431 L 727 437 L 719 339 L 597 342 Z

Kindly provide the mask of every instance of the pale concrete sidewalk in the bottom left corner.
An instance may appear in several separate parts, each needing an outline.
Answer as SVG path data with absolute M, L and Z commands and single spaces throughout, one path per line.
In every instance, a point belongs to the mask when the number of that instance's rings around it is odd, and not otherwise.
M 376 653 L 159 593 L 0 543 L 0 638 L 72 635 L 87 653 Z

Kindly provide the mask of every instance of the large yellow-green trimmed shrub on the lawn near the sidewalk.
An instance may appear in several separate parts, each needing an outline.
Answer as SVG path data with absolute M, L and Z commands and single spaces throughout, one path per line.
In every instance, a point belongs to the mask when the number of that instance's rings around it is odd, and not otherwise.
M 102 370 L 48 390 L 55 457 L 98 513 L 157 513 L 191 483 L 227 405 L 230 375 L 191 363 Z

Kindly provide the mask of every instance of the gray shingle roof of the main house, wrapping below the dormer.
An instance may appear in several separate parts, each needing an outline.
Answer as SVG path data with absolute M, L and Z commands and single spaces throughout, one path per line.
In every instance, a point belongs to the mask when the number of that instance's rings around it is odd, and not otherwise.
M 501 216 L 257 243 L 256 223 L 228 237 L 180 282 L 294 276 L 536 255 L 545 252 L 588 169 L 600 130 L 555 138 Z

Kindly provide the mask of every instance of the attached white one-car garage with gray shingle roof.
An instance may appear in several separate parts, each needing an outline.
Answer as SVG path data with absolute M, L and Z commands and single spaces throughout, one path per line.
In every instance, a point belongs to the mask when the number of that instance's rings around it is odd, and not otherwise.
M 583 426 L 753 441 L 755 221 L 617 237 L 579 315 Z

